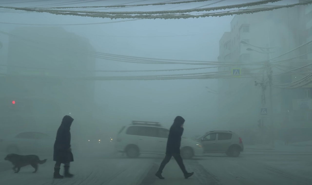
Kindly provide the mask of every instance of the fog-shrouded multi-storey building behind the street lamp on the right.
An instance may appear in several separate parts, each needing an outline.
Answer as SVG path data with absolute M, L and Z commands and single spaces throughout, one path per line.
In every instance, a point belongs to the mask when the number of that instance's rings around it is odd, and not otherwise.
M 260 7 L 271 6 L 250 8 Z M 221 78 L 218 81 L 219 122 L 227 122 L 229 128 L 238 132 L 244 128 L 255 129 L 258 126 L 266 128 L 312 126 L 312 119 L 309 116 L 312 115 L 312 107 L 307 107 L 304 111 L 298 108 L 298 102 L 306 101 L 309 104 L 311 101 L 310 87 L 290 89 L 281 85 L 294 83 L 300 78 L 296 73 L 291 75 L 285 73 L 290 70 L 285 69 L 285 66 L 300 67 L 302 64 L 287 60 L 279 62 L 303 54 L 301 48 L 293 50 L 305 42 L 301 29 L 302 8 L 308 7 L 281 8 L 234 16 L 231 31 L 225 32 L 220 39 L 218 58 L 220 64 L 232 63 L 232 65 L 220 67 L 218 70 L 231 75 L 232 69 L 240 69 L 241 76 Z M 282 55 L 290 50 L 293 51 Z M 271 59 L 270 63 L 266 62 L 268 59 Z M 274 66 L 270 68 L 268 64 Z M 276 64 L 281 64 L 282 67 Z M 273 70 L 271 93 L 269 85 L 262 93 L 261 85 L 255 86 L 255 81 L 269 82 L 268 69 Z M 261 116 L 261 108 L 266 108 L 267 115 Z M 305 112 L 305 117 L 302 116 L 302 112 Z M 260 122 L 262 125 L 259 125 L 258 120 L 262 120 Z

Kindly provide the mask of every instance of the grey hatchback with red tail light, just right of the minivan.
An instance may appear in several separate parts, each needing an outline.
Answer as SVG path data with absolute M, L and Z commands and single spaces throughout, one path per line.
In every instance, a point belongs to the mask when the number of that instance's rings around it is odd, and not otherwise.
M 238 157 L 244 151 L 242 139 L 231 131 L 209 131 L 197 138 L 204 149 L 204 153 L 225 153 L 227 156 Z

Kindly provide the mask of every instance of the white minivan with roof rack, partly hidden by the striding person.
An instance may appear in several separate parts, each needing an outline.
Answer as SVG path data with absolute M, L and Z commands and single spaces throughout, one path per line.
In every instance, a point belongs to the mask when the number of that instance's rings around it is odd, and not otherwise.
M 129 158 L 140 154 L 165 154 L 169 130 L 158 122 L 132 121 L 131 125 L 123 126 L 115 140 L 117 152 L 126 153 Z M 182 137 L 181 156 L 190 159 L 203 155 L 199 142 Z

